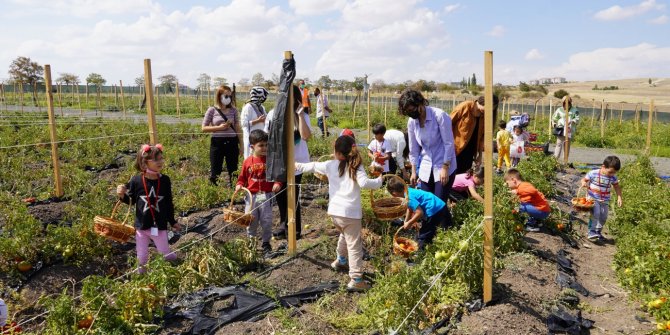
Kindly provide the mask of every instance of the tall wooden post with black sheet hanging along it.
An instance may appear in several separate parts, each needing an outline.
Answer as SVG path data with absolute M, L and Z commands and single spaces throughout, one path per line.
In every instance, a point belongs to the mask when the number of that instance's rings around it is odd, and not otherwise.
M 284 59 L 293 58 L 291 51 L 284 51 Z M 284 115 L 284 136 L 286 140 L 286 197 L 288 198 L 288 252 L 295 254 L 297 250 L 295 236 L 295 143 L 293 142 L 293 123 L 295 113 L 295 101 L 293 101 L 293 84 L 289 85 L 288 106 Z

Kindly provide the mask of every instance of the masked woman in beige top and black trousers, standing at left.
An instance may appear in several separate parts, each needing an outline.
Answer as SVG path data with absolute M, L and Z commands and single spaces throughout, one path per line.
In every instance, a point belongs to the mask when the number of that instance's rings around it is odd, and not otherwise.
M 242 152 L 240 118 L 235 109 L 233 92 L 228 86 L 216 90 L 216 103 L 209 107 L 202 119 L 202 131 L 212 133 L 209 144 L 209 181 L 216 185 L 226 160 L 228 181 L 232 186 L 233 172 L 237 171 L 238 157 Z

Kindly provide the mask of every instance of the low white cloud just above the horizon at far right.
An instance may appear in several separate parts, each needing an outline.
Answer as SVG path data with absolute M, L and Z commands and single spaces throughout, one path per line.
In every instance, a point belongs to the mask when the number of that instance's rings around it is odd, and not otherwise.
M 552 73 L 569 80 L 619 79 L 658 76 L 667 68 L 670 47 L 641 43 L 625 48 L 602 48 L 576 53 Z

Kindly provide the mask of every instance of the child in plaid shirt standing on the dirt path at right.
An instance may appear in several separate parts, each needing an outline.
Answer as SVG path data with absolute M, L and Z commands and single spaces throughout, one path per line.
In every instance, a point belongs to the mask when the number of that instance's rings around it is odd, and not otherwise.
M 617 194 L 617 206 L 621 207 L 623 198 L 621 195 L 621 186 L 616 177 L 616 173 L 621 169 L 621 161 L 617 156 L 607 156 L 603 161 L 603 165 L 599 169 L 591 170 L 582 179 L 582 187 L 588 187 L 588 198 L 594 199 L 595 204 L 591 217 L 589 218 L 589 235 L 590 241 L 604 241 L 602 229 L 607 221 L 607 214 L 609 212 L 609 200 L 611 189 Z

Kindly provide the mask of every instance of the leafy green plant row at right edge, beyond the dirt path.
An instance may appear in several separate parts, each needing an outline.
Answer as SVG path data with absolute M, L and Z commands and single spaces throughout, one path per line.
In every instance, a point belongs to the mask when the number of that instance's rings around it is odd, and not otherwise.
M 670 334 L 670 187 L 656 177 L 649 158 L 638 157 L 619 173 L 625 205 L 613 208 L 617 235 L 614 268 L 622 286 L 646 302 L 642 308 Z

